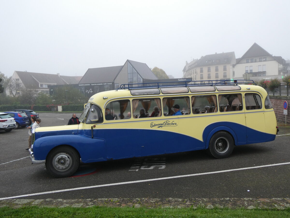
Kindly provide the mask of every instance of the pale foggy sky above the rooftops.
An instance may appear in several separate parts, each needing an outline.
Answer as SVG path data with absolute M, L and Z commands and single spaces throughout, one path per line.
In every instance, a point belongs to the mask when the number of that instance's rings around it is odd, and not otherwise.
M 290 1 L 0 0 L 0 71 L 83 76 L 127 59 L 182 77 L 185 61 L 256 42 L 290 59 Z

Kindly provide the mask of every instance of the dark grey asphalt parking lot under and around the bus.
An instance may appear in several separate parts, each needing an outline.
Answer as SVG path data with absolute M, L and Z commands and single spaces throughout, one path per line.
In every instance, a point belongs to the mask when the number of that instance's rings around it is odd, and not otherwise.
M 77 113 L 77 116 L 80 114 Z M 40 113 L 40 126 L 66 125 L 71 113 Z M 26 128 L 0 132 L 1 199 L 289 198 L 290 128 L 273 142 L 237 146 L 226 159 L 204 151 L 81 164 L 53 178 L 32 165 Z

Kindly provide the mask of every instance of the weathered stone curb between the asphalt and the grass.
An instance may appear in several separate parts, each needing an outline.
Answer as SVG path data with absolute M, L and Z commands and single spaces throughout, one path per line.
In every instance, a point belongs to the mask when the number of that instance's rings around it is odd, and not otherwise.
M 0 207 L 21 208 L 25 206 L 39 207 L 146 207 L 146 208 L 245 208 L 245 209 L 278 209 L 290 208 L 290 198 L 200 198 L 200 199 L 7 199 L 0 200 Z

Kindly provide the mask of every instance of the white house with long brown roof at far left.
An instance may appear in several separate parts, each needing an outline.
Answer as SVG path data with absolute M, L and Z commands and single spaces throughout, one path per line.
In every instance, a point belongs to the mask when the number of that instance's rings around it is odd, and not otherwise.
M 81 76 L 61 76 L 59 74 L 14 71 L 10 83 L 6 88 L 6 95 L 21 95 L 21 89 L 23 88 L 49 94 L 49 85 L 77 84 L 80 79 Z

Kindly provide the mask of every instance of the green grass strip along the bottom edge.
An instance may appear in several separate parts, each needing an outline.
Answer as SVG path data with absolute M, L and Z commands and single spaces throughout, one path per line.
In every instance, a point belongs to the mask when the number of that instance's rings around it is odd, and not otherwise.
M 93 206 L 90 208 L 48 208 L 29 206 L 18 209 L 10 207 L 0 208 L 0 217 L 114 217 L 114 218 L 151 218 L 151 217 L 290 217 L 290 208 L 285 210 L 268 209 L 229 209 L 229 208 L 108 208 Z

